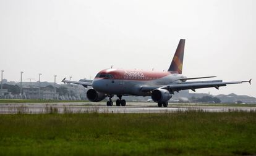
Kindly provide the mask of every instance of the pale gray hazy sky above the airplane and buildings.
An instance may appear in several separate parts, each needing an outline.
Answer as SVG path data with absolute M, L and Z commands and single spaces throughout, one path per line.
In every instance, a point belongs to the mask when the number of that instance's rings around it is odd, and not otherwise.
M 20 81 L 22 70 L 24 80 L 42 73 L 58 83 L 111 65 L 162 71 L 184 38 L 184 75 L 253 79 L 197 92 L 256 96 L 255 7 L 254 0 L 0 0 L 0 69 L 9 81 Z

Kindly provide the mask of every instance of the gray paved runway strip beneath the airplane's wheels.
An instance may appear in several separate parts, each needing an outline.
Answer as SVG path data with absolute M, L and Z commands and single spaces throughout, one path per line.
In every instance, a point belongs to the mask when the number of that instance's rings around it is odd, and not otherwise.
M 197 110 L 202 112 L 256 111 L 256 107 L 213 105 L 179 105 L 157 107 L 153 102 L 127 102 L 125 107 L 106 106 L 105 102 L 0 104 L 0 113 L 173 113 Z

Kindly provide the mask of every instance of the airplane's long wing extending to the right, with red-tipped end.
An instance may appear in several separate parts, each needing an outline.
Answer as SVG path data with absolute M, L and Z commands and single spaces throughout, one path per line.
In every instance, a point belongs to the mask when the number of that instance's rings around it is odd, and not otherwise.
M 169 92 L 174 93 L 174 91 L 181 91 L 191 89 L 195 91 L 195 89 L 199 88 L 216 88 L 219 89 L 221 86 L 226 86 L 227 84 L 238 84 L 238 83 L 245 83 L 249 81 L 231 81 L 231 82 L 223 82 L 222 80 L 215 80 L 215 81 L 194 81 L 194 82 L 185 82 L 185 83 L 177 83 L 177 84 L 169 84 L 169 85 L 160 85 L 160 86 L 141 86 L 141 91 L 153 91 L 157 88 L 167 89 Z

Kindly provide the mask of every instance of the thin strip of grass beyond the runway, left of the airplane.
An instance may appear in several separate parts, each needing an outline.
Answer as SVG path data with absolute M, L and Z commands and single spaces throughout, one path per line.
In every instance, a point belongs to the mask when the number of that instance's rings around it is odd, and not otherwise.
M 41 100 L 41 99 L 0 99 L 0 104 L 17 104 L 17 103 L 58 103 L 58 102 L 89 102 L 81 101 L 60 101 L 60 100 Z

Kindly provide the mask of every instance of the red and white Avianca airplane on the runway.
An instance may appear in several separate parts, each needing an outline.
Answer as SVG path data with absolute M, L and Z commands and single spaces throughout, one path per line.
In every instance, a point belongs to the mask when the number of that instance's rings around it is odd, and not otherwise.
M 70 81 L 64 78 L 63 83 L 82 84 L 85 88 L 91 86 L 87 91 L 87 98 L 92 102 L 99 102 L 109 97 L 106 105 L 113 106 L 112 97 L 116 95 L 116 106 L 125 106 L 126 101 L 122 96 L 151 96 L 158 107 L 168 107 L 168 101 L 174 92 L 181 90 L 199 88 L 216 88 L 227 84 L 251 83 L 249 81 L 189 81 L 202 78 L 214 78 L 216 76 L 204 76 L 187 78 L 182 75 L 182 64 L 184 56 L 185 39 L 180 39 L 171 65 L 167 72 L 123 70 L 108 68 L 101 70 L 94 80 Z

